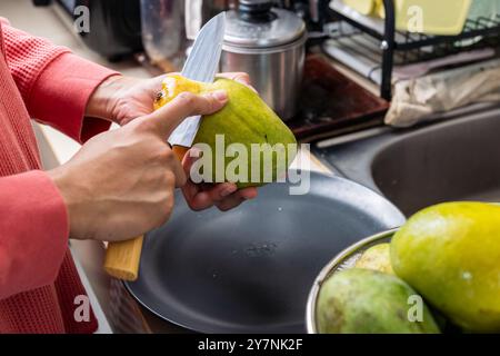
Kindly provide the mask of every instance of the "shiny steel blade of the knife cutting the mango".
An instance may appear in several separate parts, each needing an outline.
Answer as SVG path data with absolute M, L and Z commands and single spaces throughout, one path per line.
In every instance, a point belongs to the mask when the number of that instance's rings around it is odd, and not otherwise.
M 226 13 L 221 12 L 207 22 L 198 33 L 182 69 L 182 76 L 198 81 L 213 81 L 219 69 L 224 31 Z M 194 116 L 182 121 L 170 135 L 170 145 L 191 147 L 200 127 L 200 116 Z

